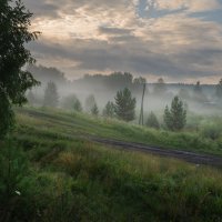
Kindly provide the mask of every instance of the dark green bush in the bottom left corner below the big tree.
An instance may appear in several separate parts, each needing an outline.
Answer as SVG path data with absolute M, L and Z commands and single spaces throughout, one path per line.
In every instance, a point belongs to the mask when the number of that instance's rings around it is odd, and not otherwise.
M 18 218 L 26 209 L 21 183 L 29 173 L 29 162 L 23 151 L 11 139 L 1 143 L 0 150 L 0 220 L 20 221 Z

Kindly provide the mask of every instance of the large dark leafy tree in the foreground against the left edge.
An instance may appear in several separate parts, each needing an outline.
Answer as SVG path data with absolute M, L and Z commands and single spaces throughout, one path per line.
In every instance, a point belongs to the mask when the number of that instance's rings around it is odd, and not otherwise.
M 26 92 L 39 84 L 32 74 L 21 69 L 33 63 L 28 42 L 37 40 L 39 32 L 30 32 L 30 18 L 21 1 L 0 3 L 0 137 L 13 124 L 12 105 L 27 102 Z

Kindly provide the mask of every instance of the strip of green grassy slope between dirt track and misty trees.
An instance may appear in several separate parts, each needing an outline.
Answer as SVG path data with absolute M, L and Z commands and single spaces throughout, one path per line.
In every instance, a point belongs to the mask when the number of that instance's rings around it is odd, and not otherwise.
M 26 112 L 33 118 L 18 115 L 24 130 L 31 125 L 30 131 L 60 133 L 68 138 L 94 135 L 222 155 L 222 138 L 212 140 L 196 132 L 157 131 L 117 120 L 94 119 L 85 114 L 64 113 L 63 111 L 27 109 Z

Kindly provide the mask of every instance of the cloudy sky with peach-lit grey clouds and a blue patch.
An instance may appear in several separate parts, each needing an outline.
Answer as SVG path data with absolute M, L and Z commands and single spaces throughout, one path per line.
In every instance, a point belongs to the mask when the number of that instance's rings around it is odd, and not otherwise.
M 23 0 L 29 49 L 70 79 L 128 71 L 153 82 L 222 78 L 222 0 Z

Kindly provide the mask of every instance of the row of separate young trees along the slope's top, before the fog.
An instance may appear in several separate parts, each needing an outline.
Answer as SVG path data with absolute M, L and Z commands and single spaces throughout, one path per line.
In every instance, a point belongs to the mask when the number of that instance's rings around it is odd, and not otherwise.
M 158 89 L 161 91 L 160 85 Z M 28 100 L 30 104 L 34 104 L 34 97 L 31 94 L 31 92 L 28 94 Z M 128 88 L 118 91 L 113 98 L 113 101 L 108 101 L 107 104 L 104 104 L 102 112 L 100 112 L 93 94 L 90 94 L 85 99 L 84 105 L 82 105 L 82 102 L 75 94 L 67 95 L 62 98 L 61 101 L 59 101 L 57 85 L 53 82 L 49 82 L 44 90 L 42 105 L 51 108 L 60 107 L 73 112 L 85 112 L 92 114 L 93 117 L 101 115 L 111 119 L 115 118 L 127 122 L 133 121 L 137 118 L 137 99 L 133 98 L 131 91 Z M 182 102 L 182 100 L 180 100 L 179 97 L 174 97 L 171 103 L 171 108 L 168 105 L 165 107 L 163 119 L 167 128 L 170 130 L 174 131 L 184 128 L 186 123 L 186 110 L 185 104 Z M 160 129 L 159 120 L 153 112 L 149 114 L 145 124 L 151 128 Z

